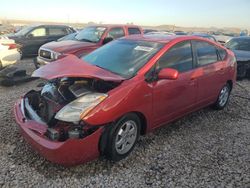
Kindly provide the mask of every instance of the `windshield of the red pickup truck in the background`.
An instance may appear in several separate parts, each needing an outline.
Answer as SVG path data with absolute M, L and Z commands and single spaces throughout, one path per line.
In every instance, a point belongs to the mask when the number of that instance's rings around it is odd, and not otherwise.
M 105 27 L 87 27 L 87 28 L 81 30 L 75 36 L 75 39 L 78 41 L 97 43 L 100 41 L 105 30 L 106 30 Z

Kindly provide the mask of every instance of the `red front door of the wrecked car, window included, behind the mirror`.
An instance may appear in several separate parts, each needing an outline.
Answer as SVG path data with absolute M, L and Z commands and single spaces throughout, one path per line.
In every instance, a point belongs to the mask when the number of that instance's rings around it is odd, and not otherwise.
M 162 68 L 179 71 L 177 80 L 158 80 L 153 84 L 153 116 L 161 125 L 189 112 L 196 102 L 197 82 L 192 80 L 193 52 L 190 41 L 176 44 L 157 62 L 157 72 Z

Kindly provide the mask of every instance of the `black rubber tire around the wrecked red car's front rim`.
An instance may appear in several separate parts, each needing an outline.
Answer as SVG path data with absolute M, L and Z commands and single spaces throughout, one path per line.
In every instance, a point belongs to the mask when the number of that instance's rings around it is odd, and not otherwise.
M 125 153 L 119 153 L 117 150 L 116 144 L 117 144 L 117 138 L 120 136 L 118 135 L 119 131 L 122 129 L 122 127 L 128 123 L 128 122 L 134 122 L 136 125 L 136 137 L 133 144 L 131 144 L 131 148 L 126 151 Z M 133 125 L 134 126 L 134 125 Z M 140 128 L 141 128 L 141 122 L 139 117 L 134 113 L 129 113 L 122 118 L 120 118 L 113 126 L 110 126 L 106 131 L 107 132 L 107 140 L 105 142 L 105 150 L 104 155 L 108 160 L 111 161 L 119 161 L 127 157 L 132 150 L 134 149 L 137 140 L 140 135 Z M 131 129 L 132 130 L 132 129 Z M 130 132 L 130 131 L 129 131 Z M 135 134 L 134 134 L 135 135 Z M 125 141 L 126 142 L 126 141 Z M 129 143 L 129 142 L 128 142 Z M 127 144 L 125 144 L 127 145 Z M 124 150 L 125 151 L 125 150 Z

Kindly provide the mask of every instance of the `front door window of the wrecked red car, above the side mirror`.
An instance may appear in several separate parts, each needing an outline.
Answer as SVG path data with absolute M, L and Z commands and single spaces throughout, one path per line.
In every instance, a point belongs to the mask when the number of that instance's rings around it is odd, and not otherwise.
M 193 68 L 193 53 L 190 41 L 176 44 L 158 61 L 158 68 L 173 68 L 179 72 Z

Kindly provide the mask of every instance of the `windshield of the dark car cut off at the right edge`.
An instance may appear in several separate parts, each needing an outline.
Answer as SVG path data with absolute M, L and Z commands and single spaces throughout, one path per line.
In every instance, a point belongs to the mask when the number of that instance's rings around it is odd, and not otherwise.
M 225 46 L 231 50 L 250 51 L 250 39 L 232 39 Z

